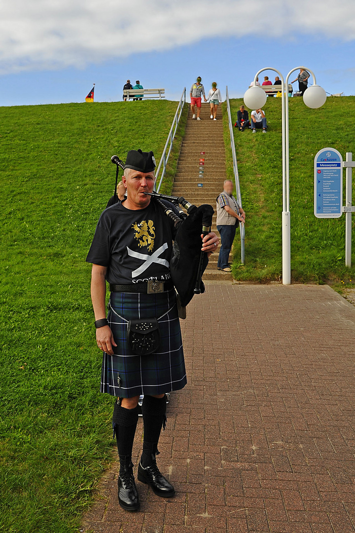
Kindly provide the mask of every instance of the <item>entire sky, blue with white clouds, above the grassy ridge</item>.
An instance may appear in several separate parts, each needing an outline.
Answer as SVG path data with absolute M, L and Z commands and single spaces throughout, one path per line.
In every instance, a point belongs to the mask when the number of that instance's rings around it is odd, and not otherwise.
M 129 78 L 178 100 L 197 76 L 229 96 L 265 67 L 355 94 L 354 0 L 2 0 L 0 106 L 122 99 Z M 265 72 L 274 79 L 275 72 Z M 291 75 L 291 80 L 296 72 Z M 133 84 L 134 84 L 133 83 Z M 296 88 L 297 84 L 295 84 Z

